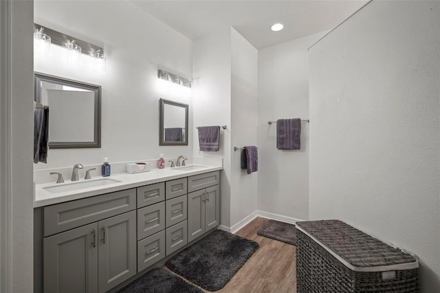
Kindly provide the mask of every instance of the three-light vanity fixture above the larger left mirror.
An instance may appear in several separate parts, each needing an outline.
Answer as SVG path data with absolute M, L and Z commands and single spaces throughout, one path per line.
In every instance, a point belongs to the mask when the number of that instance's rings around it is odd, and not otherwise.
M 94 57 L 94 71 L 104 73 L 105 56 L 104 48 L 76 39 L 73 36 L 68 36 L 62 32 L 51 30 L 50 28 L 42 27 L 34 23 L 34 50 L 38 54 L 50 56 L 50 44 L 65 47 L 67 49 L 67 63 L 69 65 L 80 65 L 81 54 Z M 42 46 L 43 44 L 44 46 Z M 43 52 L 41 52 L 43 50 Z

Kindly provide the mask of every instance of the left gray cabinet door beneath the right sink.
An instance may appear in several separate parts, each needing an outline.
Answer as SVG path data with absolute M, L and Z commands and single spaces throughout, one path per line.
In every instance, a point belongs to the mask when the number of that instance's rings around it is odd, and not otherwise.
M 188 193 L 188 242 L 205 232 L 205 191 Z

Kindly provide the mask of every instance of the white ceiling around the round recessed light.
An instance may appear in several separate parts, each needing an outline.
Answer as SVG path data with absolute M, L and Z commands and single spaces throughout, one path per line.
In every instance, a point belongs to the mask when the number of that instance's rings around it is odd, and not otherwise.
M 366 0 L 129 0 L 135 6 L 195 40 L 233 27 L 256 49 L 331 30 Z M 272 32 L 283 23 L 281 32 Z

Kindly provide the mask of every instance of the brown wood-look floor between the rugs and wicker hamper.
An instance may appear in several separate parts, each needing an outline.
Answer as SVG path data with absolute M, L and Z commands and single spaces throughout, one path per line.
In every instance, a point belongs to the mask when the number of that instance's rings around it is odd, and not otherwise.
M 267 221 L 257 217 L 235 233 L 258 242 L 260 248 L 217 292 L 296 292 L 296 246 L 257 235 Z

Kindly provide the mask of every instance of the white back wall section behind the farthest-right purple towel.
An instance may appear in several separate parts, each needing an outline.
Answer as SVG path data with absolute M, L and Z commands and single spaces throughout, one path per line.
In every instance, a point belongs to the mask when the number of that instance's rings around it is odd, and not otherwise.
M 309 52 L 325 32 L 259 50 L 258 209 L 309 218 L 309 123 L 301 123 L 301 149 L 276 149 L 276 121 L 309 119 Z M 311 120 L 311 123 L 314 123 Z

